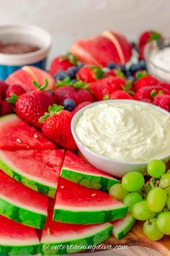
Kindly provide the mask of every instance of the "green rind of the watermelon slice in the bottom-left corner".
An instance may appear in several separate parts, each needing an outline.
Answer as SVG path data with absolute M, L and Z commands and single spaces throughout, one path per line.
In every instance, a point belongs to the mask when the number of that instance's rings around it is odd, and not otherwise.
M 40 253 L 41 244 L 28 244 L 28 245 L 1 245 L 0 244 L 0 255 L 3 256 L 30 256 L 38 255 Z

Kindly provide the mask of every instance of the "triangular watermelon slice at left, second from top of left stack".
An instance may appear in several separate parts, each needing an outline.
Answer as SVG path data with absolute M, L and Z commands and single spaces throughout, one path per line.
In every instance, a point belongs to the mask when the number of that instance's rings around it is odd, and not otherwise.
M 55 197 L 64 150 L 0 150 L 0 168 L 9 176 Z

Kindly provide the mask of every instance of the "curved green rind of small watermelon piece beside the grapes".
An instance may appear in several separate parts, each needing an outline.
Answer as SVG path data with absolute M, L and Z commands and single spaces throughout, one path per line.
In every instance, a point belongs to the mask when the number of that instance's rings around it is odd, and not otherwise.
M 135 224 L 135 218 L 132 216 L 132 214 L 130 214 L 126 218 L 125 226 L 122 226 L 122 228 L 120 228 L 120 229 L 117 228 L 117 231 L 114 230 L 114 224 L 113 224 L 113 232 L 112 232 L 112 234 L 115 236 L 115 238 L 117 240 L 120 240 L 120 239 L 122 239 L 123 236 L 128 234 L 130 229 L 133 228 L 134 224 Z

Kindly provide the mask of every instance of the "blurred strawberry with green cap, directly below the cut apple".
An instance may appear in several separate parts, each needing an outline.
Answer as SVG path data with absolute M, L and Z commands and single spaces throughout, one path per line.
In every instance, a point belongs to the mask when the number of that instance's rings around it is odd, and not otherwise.
M 96 80 L 103 78 L 104 72 L 102 70 L 102 67 L 86 65 L 84 67 L 81 67 L 81 69 L 79 69 L 76 75 L 81 81 L 94 82 Z

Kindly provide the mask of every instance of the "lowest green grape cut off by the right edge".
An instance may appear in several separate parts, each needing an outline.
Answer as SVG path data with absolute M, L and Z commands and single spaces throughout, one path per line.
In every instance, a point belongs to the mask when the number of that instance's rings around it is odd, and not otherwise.
M 160 213 L 156 224 L 163 234 L 170 235 L 170 212 Z

